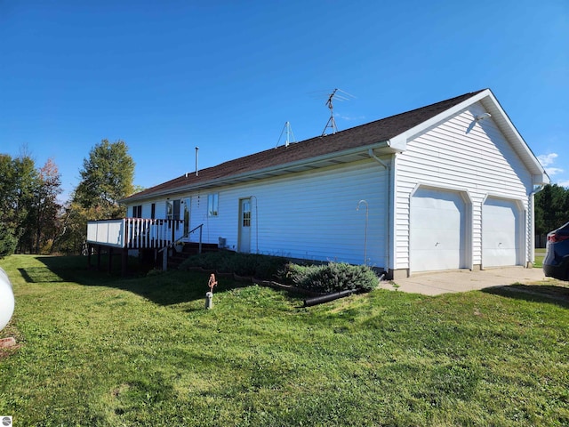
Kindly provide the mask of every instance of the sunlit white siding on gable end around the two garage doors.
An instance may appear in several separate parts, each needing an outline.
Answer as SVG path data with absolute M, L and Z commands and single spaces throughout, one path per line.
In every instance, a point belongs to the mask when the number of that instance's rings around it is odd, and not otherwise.
M 482 262 L 482 204 L 485 197 L 519 200 L 527 211 L 532 175 L 492 119 L 475 122 L 484 113 L 476 103 L 445 123 L 409 141 L 397 157 L 396 269 L 409 268 L 411 192 L 418 184 L 466 189 L 472 199 L 472 264 Z M 529 230 L 525 215 L 525 230 Z M 527 234 L 527 233 L 526 233 Z M 526 242 L 528 236 L 522 239 Z M 527 256 L 528 251 L 525 251 Z M 526 260 L 525 260 L 526 261 Z

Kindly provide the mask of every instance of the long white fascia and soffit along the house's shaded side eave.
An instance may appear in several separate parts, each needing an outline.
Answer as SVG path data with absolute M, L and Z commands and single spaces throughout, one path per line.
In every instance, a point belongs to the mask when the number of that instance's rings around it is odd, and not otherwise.
M 264 175 L 266 173 L 278 173 L 279 171 L 285 171 L 287 169 L 299 167 L 302 165 L 310 165 L 313 163 L 325 162 L 326 160 L 332 160 L 333 158 L 336 158 L 336 157 L 350 156 L 350 155 L 354 155 L 354 154 L 358 154 L 358 153 L 364 153 L 365 156 L 367 156 L 367 152 L 369 149 L 389 149 L 389 147 L 390 147 L 389 141 L 380 141 L 380 142 L 376 142 L 374 144 L 370 144 L 370 145 L 366 145 L 366 146 L 362 146 L 362 147 L 357 147 L 355 149 L 347 149 L 344 151 L 336 151 L 333 153 L 325 154 L 323 156 L 304 158 L 304 159 L 298 160 L 296 162 L 290 162 L 290 163 L 286 163 L 283 165 L 269 166 L 269 167 L 266 167 L 263 169 L 258 169 L 255 171 L 250 171 L 250 172 L 245 172 L 245 173 L 238 173 L 236 175 L 230 175 L 227 177 L 218 178 L 218 179 L 211 180 L 211 181 L 196 182 L 193 184 L 180 186 L 180 187 L 177 187 L 175 189 L 164 189 L 162 191 L 152 192 L 148 195 L 141 196 L 141 197 L 136 197 L 136 195 L 135 195 L 134 197 L 130 197 L 128 199 L 128 201 L 123 199 L 123 200 L 119 200 L 119 202 L 120 203 L 127 203 L 128 205 L 132 205 L 133 202 L 138 202 L 140 200 L 147 200 L 150 198 L 160 198 L 160 197 L 164 197 L 164 196 L 170 196 L 172 194 L 188 193 L 188 191 L 192 191 L 195 189 L 203 189 L 204 187 L 205 188 L 220 187 L 220 186 L 228 185 L 228 184 L 231 184 L 235 181 L 241 181 L 244 179 L 255 179 L 255 177 L 261 178 L 262 175 Z

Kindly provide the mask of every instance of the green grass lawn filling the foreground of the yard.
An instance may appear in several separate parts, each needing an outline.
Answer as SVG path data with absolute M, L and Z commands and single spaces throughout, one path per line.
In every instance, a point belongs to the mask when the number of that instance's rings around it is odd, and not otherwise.
M 301 298 L 12 255 L 0 415 L 20 426 L 569 425 L 569 298 Z

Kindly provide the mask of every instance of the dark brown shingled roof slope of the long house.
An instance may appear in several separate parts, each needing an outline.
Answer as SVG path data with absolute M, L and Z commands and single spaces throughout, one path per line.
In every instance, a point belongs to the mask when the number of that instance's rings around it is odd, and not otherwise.
M 188 188 L 188 186 L 195 187 L 210 181 L 220 180 L 221 178 L 254 173 L 272 166 L 292 164 L 312 157 L 341 153 L 349 149 L 365 148 L 381 141 L 388 141 L 480 92 L 482 91 L 465 93 L 450 100 L 437 102 L 421 109 L 413 109 L 396 116 L 382 118 L 381 120 L 352 127 L 345 131 L 229 160 L 220 165 L 201 169 L 198 176 L 196 174 L 182 175 L 172 181 L 166 181 L 145 189 L 130 197 L 126 197 L 123 202 L 129 202 L 131 199 L 153 197 L 154 195 L 164 195 L 167 192 L 175 192 L 177 189 L 181 190 Z

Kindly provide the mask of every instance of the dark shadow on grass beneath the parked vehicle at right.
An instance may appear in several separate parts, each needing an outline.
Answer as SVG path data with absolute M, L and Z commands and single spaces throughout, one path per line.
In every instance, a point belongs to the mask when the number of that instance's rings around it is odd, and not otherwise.
M 569 308 L 569 287 L 550 285 L 493 286 L 482 290 L 494 294 L 530 302 L 550 302 Z

